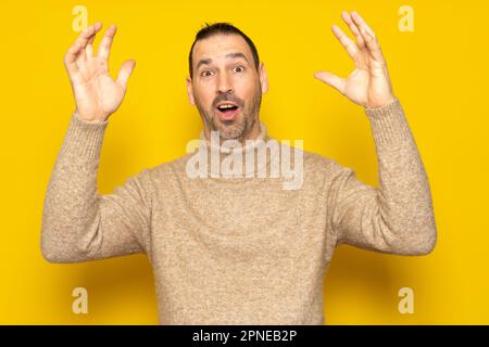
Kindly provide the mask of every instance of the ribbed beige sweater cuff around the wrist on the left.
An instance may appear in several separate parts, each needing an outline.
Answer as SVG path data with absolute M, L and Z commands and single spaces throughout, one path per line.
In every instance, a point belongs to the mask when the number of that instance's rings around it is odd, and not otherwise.
M 103 136 L 109 120 L 88 121 L 79 117 L 75 111 L 64 137 L 61 152 L 68 153 L 77 160 L 93 160 L 99 158 Z

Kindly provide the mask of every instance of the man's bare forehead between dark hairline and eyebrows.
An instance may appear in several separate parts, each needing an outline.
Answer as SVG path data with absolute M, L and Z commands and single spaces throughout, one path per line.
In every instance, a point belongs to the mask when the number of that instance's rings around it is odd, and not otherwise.
M 200 60 L 225 59 L 230 53 L 242 53 L 250 60 L 251 51 L 247 41 L 240 35 L 214 35 L 196 42 L 193 62 Z

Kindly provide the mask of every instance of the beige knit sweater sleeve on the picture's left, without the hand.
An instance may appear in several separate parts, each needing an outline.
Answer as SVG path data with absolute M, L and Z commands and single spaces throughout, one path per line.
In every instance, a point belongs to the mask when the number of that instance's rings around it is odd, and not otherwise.
M 51 262 L 80 262 L 148 253 L 151 194 L 142 170 L 100 195 L 97 172 L 108 120 L 86 121 L 75 112 L 48 183 L 41 252 Z

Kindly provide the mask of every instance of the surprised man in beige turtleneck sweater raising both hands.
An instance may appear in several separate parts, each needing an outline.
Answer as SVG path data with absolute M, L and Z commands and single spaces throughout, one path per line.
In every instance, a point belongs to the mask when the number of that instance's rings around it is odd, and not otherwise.
M 284 177 L 256 177 L 256 168 L 247 177 L 214 171 L 231 155 L 224 142 L 242 143 L 237 153 L 248 155 L 273 140 L 259 119 L 268 88 L 264 64 L 243 33 L 218 23 L 197 35 L 187 78 L 190 103 L 203 120 L 203 149 L 222 160 L 210 166 L 214 175 L 189 177 L 195 154 L 188 154 L 99 195 L 108 118 L 121 105 L 135 62 L 125 62 L 113 80 L 108 57 L 115 27 L 95 55 L 96 23 L 65 55 L 76 110 L 47 190 L 45 258 L 76 262 L 146 253 L 162 324 L 323 324 L 322 283 L 337 245 L 430 253 L 437 230 L 428 179 L 381 50 L 356 12 L 342 18 L 356 42 L 337 26 L 333 31 L 355 69 L 346 79 L 326 72 L 315 77 L 364 107 L 379 159 L 378 189 L 306 151 L 294 152 L 303 155 L 298 189 L 283 189 Z M 267 169 L 269 153 L 262 163 Z

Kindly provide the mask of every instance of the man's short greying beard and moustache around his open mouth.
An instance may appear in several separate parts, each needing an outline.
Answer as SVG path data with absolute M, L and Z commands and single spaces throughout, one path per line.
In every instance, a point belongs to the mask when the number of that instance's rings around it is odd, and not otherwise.
M 234 101 L 234 98 L 228 98 L 225 100 Z M 260 105 L 262 102 L 261 88 L 259 88 L 259 93 L 251 100 L 249 110 L 240 105 L 241 113 L 233 120 L 221 120 L 216 115 L 216 110 L 205 111 L 196 98 L 196 105 L 202 119 L 205 121 L 206 127 L 210 131 L 218 131 L 220 138 L 222 140 L 242 140 L 250 131 L 253 129 L 260 111 Z M 238 103 L 240 104 L 240 103 Z

